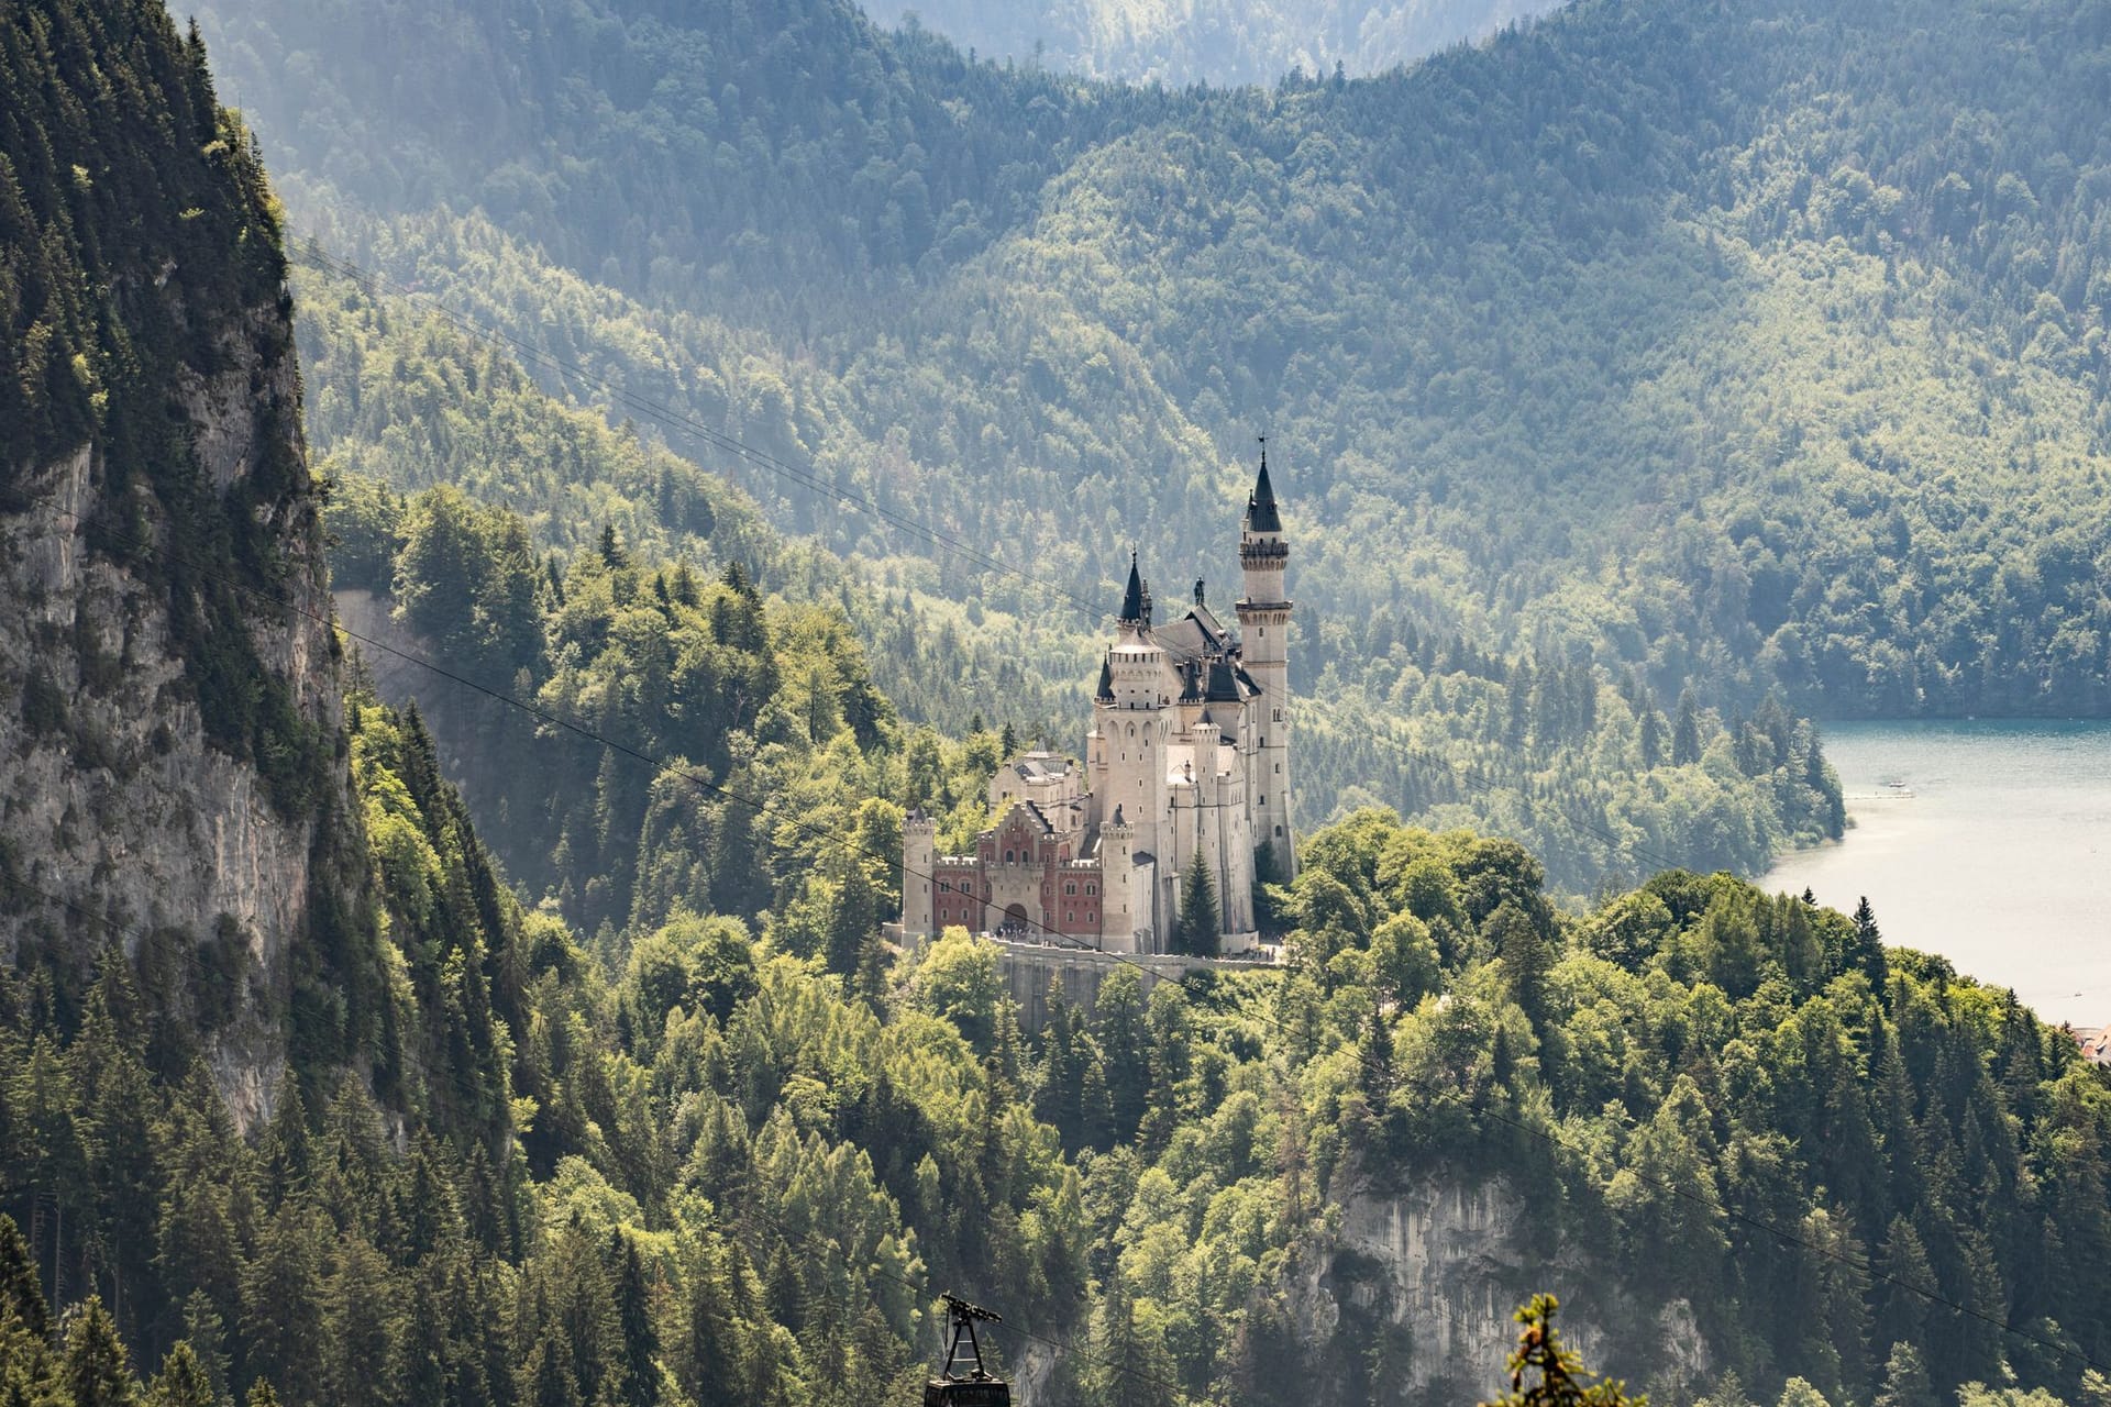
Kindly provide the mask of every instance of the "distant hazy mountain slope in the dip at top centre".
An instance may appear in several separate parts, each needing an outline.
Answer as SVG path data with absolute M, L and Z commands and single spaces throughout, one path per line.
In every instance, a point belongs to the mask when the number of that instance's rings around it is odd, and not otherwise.
M 1560 0 L 874 0 L 866 13 L 923 23 L 986 59 L 1093 78 L 1269 84 L 1290 72 L 1376 74 L 1486 38 Z

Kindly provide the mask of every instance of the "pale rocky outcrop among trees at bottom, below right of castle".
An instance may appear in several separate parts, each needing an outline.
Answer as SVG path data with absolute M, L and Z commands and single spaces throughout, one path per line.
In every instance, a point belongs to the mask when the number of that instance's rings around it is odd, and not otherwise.
M 1651 1299 L 1566 1240 L 1549 1253 L 1537 1232 L 1545 1217 L 1503 1179 L 1378 1186 L 1351 1171 L 1336 1200 L 1334 1234 L 1290 1285 L 1292 1318 L 1321 1369 L 1376 1358 L 1381 1401 L 1490 1396 L 1516 1344 L 1509 1314 L 1541 1291 L 1562 1299 L 1562 1339 L 1598 1371 L 1668 1401 L 1710 1373 L 1685 1299 Z

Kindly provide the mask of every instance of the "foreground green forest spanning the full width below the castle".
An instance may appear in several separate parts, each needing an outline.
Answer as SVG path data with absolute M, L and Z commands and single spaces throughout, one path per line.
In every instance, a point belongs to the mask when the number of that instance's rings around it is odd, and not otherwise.
M 916 1287 L 946 1283 L 1093 1348 L 1060 1401 L 1343 1394 L 1376 1367 L 1305 1358 L 1279 1295 L 1353 1274 L 1328 1226 L 1372 1177 L 1516 1190 L 1535 1247 L 1685 1299 L 1799 1403 L 1868 1401 L 1885 1363 L 1910 1407 L 2003 1371 L 2084 1401 L 2073 1358 L 1805 1245 L 2105 1350 L 2054 1287 L 2111 1253 L 2111 1091 L 1938 960 L 1887 949 L 1872 987 L 1845 915 L 1668 873 L 1571 918 L 1518 846 L 1362 812 L 1300 856 L 1288 970 L 1146 991 L 1121 968 L 1022 1034 L 961 930 L 857 983 L 825 941 L 779 947 L 777 909 L 764 939 L 678 911 L 583 943 L 496 884 L 416 715 L 346 715 L 391 975 L 369 1078 L 287 1080 L 245 1135 L 194 1059 L 150 1063 L 125 958 L 70 1029 L 38 972 L 0 975 L 6 1211 L 59 1190 L 68 1228 L 0 1226 L 21 1382 L 872 1401 L 914 1384 Z M 65 1316 L 63 1352 L 38 1327 L 55 1251 L 68 1302 L 125 1287 L 108 1329 Z M 1623 1369 L 1661 1367 L 1653 1323 L 1609 1327 Z

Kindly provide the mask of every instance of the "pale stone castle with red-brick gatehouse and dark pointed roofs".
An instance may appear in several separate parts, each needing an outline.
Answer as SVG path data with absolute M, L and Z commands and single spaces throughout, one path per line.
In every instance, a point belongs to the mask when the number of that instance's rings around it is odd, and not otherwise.
M 1250 939 L 1260 852 L 1277 880 L 1296 867 L 1288 565 L 1262 443 L 1239 532 L 1239 635 L 1210 610 L 1203 582 L 1184 616 L 1155 624 L 1131 555 L 1083 768 L 1060 753 L 1007 757 L 990 778 L 996 825 L 975 837 L 973 854 L 937 854 L 937 827 L 910 814 L 904 934 L 963 926 L 1161 953 L 1199 852 L 1216 884 L 1220 943 Z

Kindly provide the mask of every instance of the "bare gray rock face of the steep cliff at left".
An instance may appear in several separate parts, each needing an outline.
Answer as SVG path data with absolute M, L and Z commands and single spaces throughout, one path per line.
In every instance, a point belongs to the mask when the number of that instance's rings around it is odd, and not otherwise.
M 255 513 L 285 563 L 270 595 L 241 597 L 251 654 L 300 721 L 342 749 L 306 475 L 277 500 L 239 492 L 266 451 L 283 462 L 291 449 L 304 464 L 298 416 L 283 413 L 300 394 L 291 338 L 258 335 L 283 316 L 245 314 L 222 340 L 222 369 L 184 386 L 182 403 L 201 487 L 230 513 Z M 264 435 L 293 443 L 264 445 Z M 203 1021 L 207 1055 L 247 1122 L 268 1114 L 279 1086 L 289 953 L 319 871 L 336 884 L 359 873 L 357 835 L 325 835 L 319 816 L 342 831 L 357 810 L 342 762 L 329 768 L 338 795 L 327 806 L 287 814 L 258 766 L 209 740 L 173 631 L 169 570 L 182 559 L 215 580 L 243 572 L 169 540 L 167 513 L 137 483 L 144 466 L 129 468 L 114 477 L 103 451 L 82 445 L 30 466 L 13 485 L 19 510 L 0 513 L 0 873 L 17 880 L 0 886 L 0 958 L 30 947 L 87 972 L 112 943 L 133 960 L 146 943 L 173 956 L 141 964 L 165 987 L 144 996 L 190 1017 L 217 1013 Z M 95 551 L 97 529 L 118 551 Z

